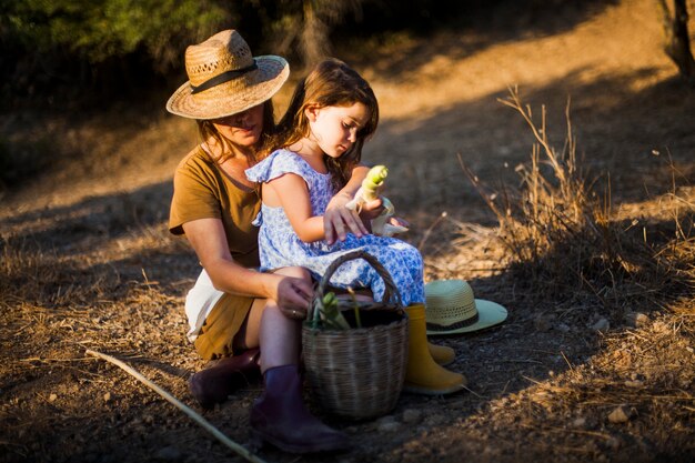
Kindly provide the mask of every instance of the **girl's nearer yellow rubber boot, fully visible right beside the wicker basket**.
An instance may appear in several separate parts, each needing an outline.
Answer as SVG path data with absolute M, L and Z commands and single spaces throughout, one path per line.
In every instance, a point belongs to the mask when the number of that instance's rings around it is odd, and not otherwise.
M 405 312 L 409 318 L 409 342 L 403 390 L 425 395 L 451 394 L 461 391 L 467 384 L 465 376 L 442 368 L 430 354 L 425 306 L 414 304 L 406 308 Z

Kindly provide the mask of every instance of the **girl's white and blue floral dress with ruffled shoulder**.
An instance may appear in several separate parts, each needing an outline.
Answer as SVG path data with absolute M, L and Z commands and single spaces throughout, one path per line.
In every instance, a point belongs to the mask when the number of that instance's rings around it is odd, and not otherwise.
M 268 182 L 285 173 L 300 175 L 309 187 L 314 215 L 323 215 L 333 197 L 331 174 L 316 172 L 293 151 L 278 150 L 245 172 L 249 180 L 254 182 Z M 376 258 L 391 274 L 401 293 L 403 305 L 425 300 L 422 255 L 401 240 L 373 234 L 356 238 L 349 233 L 345 241 L 332 245 L 323 240 L 305 243 L 292 229 L 282 208 L 270 208 L 265 204 L 262 204 L 253 223 L 261 228 L 259 248 L 263 271 L 303 266 L 319 280 L 331 262 L 341 254 L 360 249 Z M 331 284 L 339 288 L 370 288 L 376 301 L 383 299 L 385 290 L 376 270 L 362 259 L 343 263 L 333 273 Z

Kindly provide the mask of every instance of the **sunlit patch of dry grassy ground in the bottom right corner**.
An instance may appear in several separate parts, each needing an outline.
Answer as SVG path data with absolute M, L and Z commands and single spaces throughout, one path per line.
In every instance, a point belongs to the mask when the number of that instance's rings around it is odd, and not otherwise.
M 653 461 L 659 442 L 692 449 L 693 321 L 659 316 L 654 323 L 607 335 L 605 353 L 572 365 L 548 381 L 491 405 L 504 423 L 534 435 L 561 435 L 563 445 L 548 457 L 578 453 L 591 461 Z M 482 414 L 479 425 L 496 420 Z M 543 443 L 533 442 L 533 447 Z M 652 455 L 652 456 L 647 456 Z M 687 461 L 678 456 L 668 461 Z

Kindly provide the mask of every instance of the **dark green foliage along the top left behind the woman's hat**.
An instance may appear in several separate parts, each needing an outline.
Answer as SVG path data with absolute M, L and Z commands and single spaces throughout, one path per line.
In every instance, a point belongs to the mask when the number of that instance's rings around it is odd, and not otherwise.
M 336 28 L 405 27 L 403 11 L 421 20 L 431 8 L 426 0 L 0 0 L 0 109 L 153 97 L 173 85 L 168 79 L 181 81 L 188 46 L 226 28 L 256 54 L 311 64 L 331 54 Z

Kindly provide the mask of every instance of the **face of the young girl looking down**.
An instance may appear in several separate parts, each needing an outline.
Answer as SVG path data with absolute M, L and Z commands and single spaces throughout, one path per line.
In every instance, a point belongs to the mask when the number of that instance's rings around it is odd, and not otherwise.
M 331 158 L 340 158 L 357 141 L 357 131 L 370 120 L 362 103 L 349 107 L 306 108 L 309 129 L 321 150 Z

